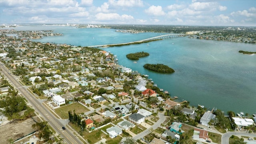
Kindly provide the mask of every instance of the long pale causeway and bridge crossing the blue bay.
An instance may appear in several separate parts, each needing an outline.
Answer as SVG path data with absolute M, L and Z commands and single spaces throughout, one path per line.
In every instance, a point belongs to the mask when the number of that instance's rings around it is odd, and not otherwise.
M 164 39 L 164 38 L 174 38 L 174 37 L 178 37 L 178 36 L 184 36 L 185 34 L 165 34 L 165 35 L 161 35 L 161 36 L 155 36 L 152 38 L 147 38 L 144 40 L 138 40 L 138 41 L 134 41 L 134 42 L 125 42 L 125 43 L 120 43 L 120 44 L 102 44 L 102 45 L 96 45 L 96 46 L 88 46 L 90 48 L 99 48 L 99 47 L 106 47 L 106 46 L 115 46 L 115 45 L 122 45 L 122 44 L 133 44 L 136 42 L 145 42 L 148 40 L 160 40 L 160 39 Z

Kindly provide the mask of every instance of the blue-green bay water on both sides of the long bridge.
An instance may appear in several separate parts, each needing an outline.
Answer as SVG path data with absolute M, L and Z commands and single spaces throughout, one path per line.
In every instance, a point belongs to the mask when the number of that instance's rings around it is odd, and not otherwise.
M 45 37 L 38 42 L 52 42 L 77 46 L 114 44 L 142 40 L 161 33 L 119 33 L 113 29 L 34 26 L 22 30 L 55 30 L 64 36 Z M 162 33 L 163 35 L 163 33 Z M 238 53 L 239 50 L 256 51 L 255 44 L 168 38 L 147 44 L 104 48 L 118 56 L 119 64 L 148 74 L 159 88 L 168 90 L 178 101 L 188 100 L 190 105 L 204 105 L 227 112 L 256 112 L 256 55 Z M 126 54 L 148 52 L 136 64 Z M 143 65 L 165 64 L 175 70 L 173 74 L 160 74 Z

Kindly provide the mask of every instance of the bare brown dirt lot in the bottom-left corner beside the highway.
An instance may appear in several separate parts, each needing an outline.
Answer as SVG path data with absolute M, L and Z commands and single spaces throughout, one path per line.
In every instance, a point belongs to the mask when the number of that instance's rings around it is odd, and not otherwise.
M 30 134 L 34 131 L 31 127 L 35 124 L 32 118 L 27 120 L 12 122 L 0 127 L 0 144 L 6 144 L 9 138 L 16 140 L 22 136 Z

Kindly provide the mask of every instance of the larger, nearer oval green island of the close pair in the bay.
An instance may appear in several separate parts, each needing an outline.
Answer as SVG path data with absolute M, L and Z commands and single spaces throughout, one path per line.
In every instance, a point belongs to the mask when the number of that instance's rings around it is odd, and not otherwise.
M 161 72 L 161 73 L 175 72 L 172 68 L 170 68 L 169 66 L 166 66 L 164 64 L 145 64 L 143 67 L 148 70 L 153 70 L 155 72 Z

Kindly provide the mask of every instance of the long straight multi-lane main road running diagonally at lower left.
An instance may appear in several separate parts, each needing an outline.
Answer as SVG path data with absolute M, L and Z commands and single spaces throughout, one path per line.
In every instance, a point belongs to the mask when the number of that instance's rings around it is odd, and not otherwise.
M 12 86 L 16 87 L 18 92 L 24 96 L 28 102 L 36 109 L 37 112 L 50 124 L 50 126 L 58 133 L 67 144 L 83 144 L 70 130 L 66 128 L 66 130 L 62 130 L 62 126 L 64 126 L 60 120 L 58 120 L 47 108 L 45 108 L 42 103 L 37 100 L 33 94 L 31 94 L 16 78 L 8 71 L 8 69 L 2 64 L 1 65 L 1 73 L 9 80 Z

